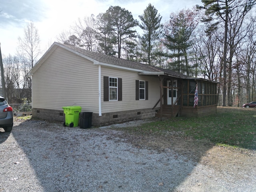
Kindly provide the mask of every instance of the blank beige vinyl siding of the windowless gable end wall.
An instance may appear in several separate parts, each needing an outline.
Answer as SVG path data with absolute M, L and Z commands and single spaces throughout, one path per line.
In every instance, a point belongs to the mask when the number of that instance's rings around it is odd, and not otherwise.
M 33 108 L 78 105 L 98 113 L 98 66 L 91 61 L 58 47 L 32 78 Z

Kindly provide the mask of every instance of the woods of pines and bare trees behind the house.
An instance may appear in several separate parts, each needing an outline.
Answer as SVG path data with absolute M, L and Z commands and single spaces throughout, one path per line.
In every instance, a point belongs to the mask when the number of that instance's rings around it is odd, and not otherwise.
M 256 101 L 256 0 L 202 3 L 171 12 L 165 23 L 152 4 L 139 21 L 125 8 L 110 6 L 79 18 L 56 41 L 220 82 L 218 105 Z M 30 103 L 28 72 L 45 52 L 32 21 L 18 42 L 16 55 L 3 56 L 6 95 L 9 103 Z

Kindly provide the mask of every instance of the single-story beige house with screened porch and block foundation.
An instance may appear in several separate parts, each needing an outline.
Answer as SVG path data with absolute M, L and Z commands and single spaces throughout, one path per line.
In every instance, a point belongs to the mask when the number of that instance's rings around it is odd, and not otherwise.
M 36 118 L 65 121 L 63 106 L 93 112 L 93 126 L 216 113 L 217 82 L 57 42 L 29 74 Z

